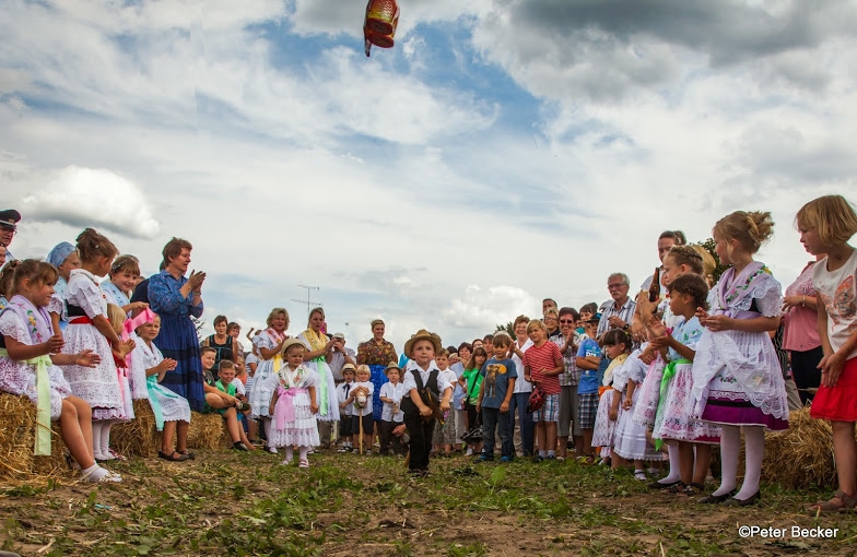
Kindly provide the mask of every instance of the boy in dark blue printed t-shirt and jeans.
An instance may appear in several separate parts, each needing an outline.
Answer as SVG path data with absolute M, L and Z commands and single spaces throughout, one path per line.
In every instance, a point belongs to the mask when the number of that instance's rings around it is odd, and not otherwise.
M 477 412 L 482 411 L 482 454 L 480 462 L 494 460 L 494 435 L 500 425 L 500 442 L 503 454 L 500 462 L 512 462 L 515 458 L 515 447 L 512 443 L 509 419 L 515 419 L 509 414 L 508 405 L 512 392 L 515 390 L 515 379 L 518 372 L 515 363 L 507 358 L 512 337 L 500 332 L 494 336 L 494 357 L 485 362 L 479 375 L 484 377 L 479 387 Z

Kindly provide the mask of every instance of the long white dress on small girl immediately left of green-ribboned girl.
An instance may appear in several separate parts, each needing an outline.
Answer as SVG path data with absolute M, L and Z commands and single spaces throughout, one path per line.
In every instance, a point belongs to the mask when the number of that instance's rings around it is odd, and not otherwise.
M 619 382 L 627 386 L 629 379 L 636 383 L 634 394 L 631 396 L 631 410 L 622 412 L 617 419 L 613 452 L 627 460 L 662 461 L 666 460 L 666 454 L 656 450 L 655 446 L 646 439 L 647 427 L 634 420 L 634 410 L 639 401 L 642 384 L 649 369 L 639 359 L 641 352 L 641 349 L 634 351 L 625 360 L 622 369 L 613 377 L 613 384 L 617 387 L 619 387 Z

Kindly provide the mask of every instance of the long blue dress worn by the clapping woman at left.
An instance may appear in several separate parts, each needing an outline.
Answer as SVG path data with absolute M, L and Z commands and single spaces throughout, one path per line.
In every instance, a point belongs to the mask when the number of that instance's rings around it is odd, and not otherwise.
M 176 369 L 167 371 L 161 384 L 187 399 L 190 408 L 206 410 L 202 389 L 202 362 L 199 337 L 191 316 L 202 316 L 202 303 L 193 306 L 193 293 L 183 297 L 179 292 L 187 277 L 176 278 L 161 271 L 149 280 L 149 304 L 161 316 L 161 333 L 153 341 L 165 358 L 176 360 Z

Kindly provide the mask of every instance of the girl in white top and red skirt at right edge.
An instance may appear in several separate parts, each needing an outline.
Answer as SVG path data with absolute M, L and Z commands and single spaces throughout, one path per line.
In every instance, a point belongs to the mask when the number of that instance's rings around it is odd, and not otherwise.
M 857 508 L 857 250 L 848 240 L 857 234 L 857 214 L 842 195 L 824 195 L 803 205 L 797 215 L 800 241 L 813 256 L 826 253 L 812 270 L 818 294 L 821 386 L 810 415 L 830 419 L 840 488 L 810 513 L 845 512 Z

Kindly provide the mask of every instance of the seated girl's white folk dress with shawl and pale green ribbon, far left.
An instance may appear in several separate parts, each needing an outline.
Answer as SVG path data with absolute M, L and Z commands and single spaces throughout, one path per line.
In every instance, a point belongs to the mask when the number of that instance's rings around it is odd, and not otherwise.
M 5 351 L 5 337 L 32 346 L 42 344 L 52 335 L 47 310 L 36 308 L 23 296 L 13 296 L 0 313 L 0 391 L 28 396 L 37 407 L 40 424 L 59 419 L 62 400 L 72 393 L 71 386 L 62 369 L 55 366 L 48 355 L 23 362 L 10 358 Z M 37 437 L 42 429 L 37 428 Z M 45 432 L 48 450 L 36 454 L 50 454 L 50 430 L 45 429 Z

